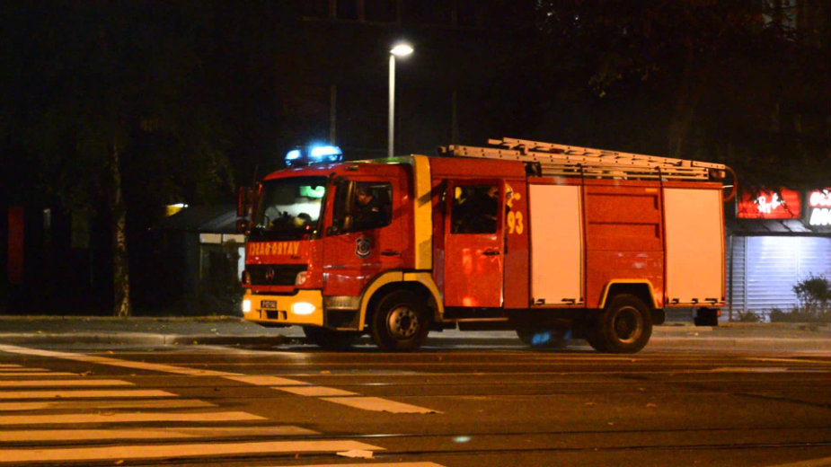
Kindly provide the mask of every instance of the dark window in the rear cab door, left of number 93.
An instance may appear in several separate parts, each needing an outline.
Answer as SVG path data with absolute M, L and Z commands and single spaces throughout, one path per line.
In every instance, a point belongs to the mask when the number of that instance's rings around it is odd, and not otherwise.
M 451 234 L 496 234 L 499 186 L 455 187 L 450 208 Z

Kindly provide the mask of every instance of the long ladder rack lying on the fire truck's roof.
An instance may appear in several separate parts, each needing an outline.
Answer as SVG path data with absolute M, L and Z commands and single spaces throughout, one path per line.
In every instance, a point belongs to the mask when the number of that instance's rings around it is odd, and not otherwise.
M 521 161 L 526 163 L 529 173 L 546 177 L 711 181 L 724 179 L 725 172 L 729 170 L 721 163 L 620 153 L 508 137 L 501 140 L 489 139 L 488 144 L 493 147 L 447 145 L 439 147 L 438 151 L 442 155 Z

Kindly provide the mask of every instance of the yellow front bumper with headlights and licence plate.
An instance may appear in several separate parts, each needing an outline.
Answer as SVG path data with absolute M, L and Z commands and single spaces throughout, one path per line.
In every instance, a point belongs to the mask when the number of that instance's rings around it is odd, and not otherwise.
M 297 290 L 294 294 L 243 295 L 243 318 L 267 325 L 323 326 L 323 293 L 320 290 Z

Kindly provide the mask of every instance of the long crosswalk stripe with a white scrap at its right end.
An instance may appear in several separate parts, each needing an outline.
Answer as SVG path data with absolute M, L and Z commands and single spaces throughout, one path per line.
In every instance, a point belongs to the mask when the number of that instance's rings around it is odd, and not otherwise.
M 382 447 L 349 440 L 195 443 L 187 445 L 119 445 L 56 449 L 5 449 L 3 456 L 0 457 L 0 463 L 158 459 L 165 457 L 210 457 L 234 454 L 334 453 L 349 451 L 351 449 L 383 450 Z

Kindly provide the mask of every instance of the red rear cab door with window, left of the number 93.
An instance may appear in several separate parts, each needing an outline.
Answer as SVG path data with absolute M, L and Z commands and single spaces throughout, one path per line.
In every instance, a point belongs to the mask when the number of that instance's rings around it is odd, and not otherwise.
M 446 196 L 446 306 L 502 306 L 504 183 L 449 181 Z

